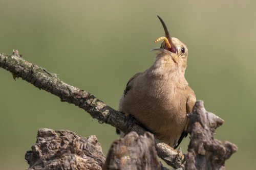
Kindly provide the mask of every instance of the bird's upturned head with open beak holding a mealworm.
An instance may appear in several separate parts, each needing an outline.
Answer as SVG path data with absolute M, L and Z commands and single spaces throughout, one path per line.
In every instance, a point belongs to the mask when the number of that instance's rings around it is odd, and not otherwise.
M 185 71 L 187 66 L 187 47 L 186 45 L 181 42 L 178 38 L 171 37 L 169 34 L 169 31 L 162 20 L 160 18 L 163 29 L 165 32 L 165 37 L 158 38 L 155 42 L 158 42 L 160 40 L 164 40 L 161 44 L 160 48 L 154 48 L 152 51 L 160 51 L 158 57 L 164 58 L 165 60 L 169 60 L 168 62 L 171 62 L 172 66 L 179 67 L 181 70 Z

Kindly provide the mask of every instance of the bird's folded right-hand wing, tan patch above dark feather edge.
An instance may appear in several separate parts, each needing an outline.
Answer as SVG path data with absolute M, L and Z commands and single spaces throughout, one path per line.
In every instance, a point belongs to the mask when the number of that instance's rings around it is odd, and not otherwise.
M 192 109 L 193 109 L 195 103 L 196 103 L 196 96 L 195 96 L 195 94 L 193 93 L 193 95 L 188 96 L 188 98 L 187 98 L 187 103 L 186 103 L 186 110 L 187 110 L 187 113 L 191 113 L 191 112 L 192 112 Z M 182 141 L 182 139 L 183 139 L 184 137 L 187 137 L 187 134 L 188 134 L 188 133 L 187 133 L 188 124 L 189 124 L 189 119 L 187 119 L 187 124 L 186 124 L 186 126 L 185 126 L 185 128 L 184 128 L 184 130 L 183 130 L 183 132 L 182 132 L 182 134 L 181 134 L 181 136 L 180 136 L 180 138 L 179 138 L 179 140 L 178 140 L 178 143 L 177 143 L 176 146 L 174 147 L 174 149 L 176 149 L 176 148 L 179 146 L 180 142 Z

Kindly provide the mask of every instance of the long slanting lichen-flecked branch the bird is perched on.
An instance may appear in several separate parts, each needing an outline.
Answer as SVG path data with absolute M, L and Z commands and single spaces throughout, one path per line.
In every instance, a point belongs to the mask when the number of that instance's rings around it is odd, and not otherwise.
M 135 131 L 143 135 L 146 132 L 136 122 L 130 121 L 131 119 L 104 104 L 88 91 L 62 82 L 56 74 L 26 61 L 18 54 L 18 51 L 14 51 L 11 56 L 0 53 L 0 67 L 12 72 L 14 78 L 20 77 L 35 87 L 58 96 L 61 102 L 74 104 L 87 111 L 93 118 L 98 119 L 100 124 L 109 124 L 125 133 Z M 168 165 L 174 168 L 184 168 L 183 155 L 157 138 L 155 138 L 155 147 L 158 156 Z

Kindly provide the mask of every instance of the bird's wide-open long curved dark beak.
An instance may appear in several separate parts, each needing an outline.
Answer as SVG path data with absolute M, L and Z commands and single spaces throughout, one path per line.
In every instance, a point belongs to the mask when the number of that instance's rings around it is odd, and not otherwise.
M 163 29 L 164 29 L 164 32 L 165 32 L 165 37 L 168 39 L 168 41 L 170 43 L 170 47 L 167 44 L 162 43 L 160 48 L 154 48 L 154 49 L 152 49 L 152 51 L 158 50 L 158 51 L 165 52 L 167 54 L 169 54 L 169 52 L 176 54 L 176 52 L 177 52 L 176 46 L 173 43 L 172 37 L 170 36 L 170 33 L 169 33 L 164 21 L 162 20 L 162 18 L 160 16 L 157 15 L 157 17 L 160 19 L 160 21 L 163 25 Z

